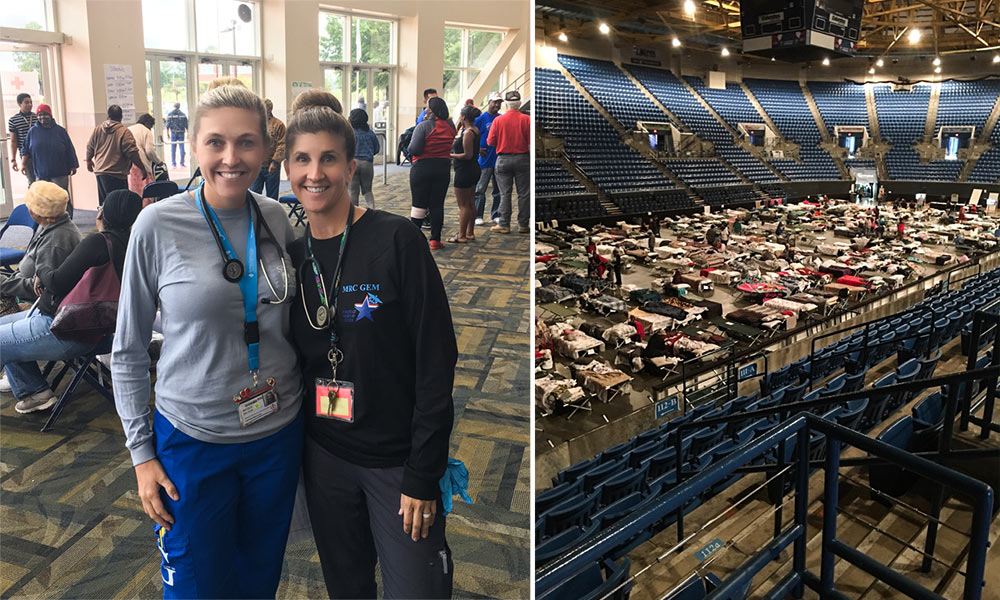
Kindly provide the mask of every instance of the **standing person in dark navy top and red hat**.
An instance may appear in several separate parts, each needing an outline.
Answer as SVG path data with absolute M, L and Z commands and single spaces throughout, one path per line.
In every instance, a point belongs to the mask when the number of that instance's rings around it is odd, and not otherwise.
M 76 157 L 73 140 L 61 125 L 52 118 L 48 104 L 38 105 L 38 124 L 28 130 L 24 140 L 26 167 L 33 171 L 36 181 L 51 181 L 69 192 L 69 178 L 76 175 L 80 161 Z M 72 199 L 66 212 L 73 218 Z

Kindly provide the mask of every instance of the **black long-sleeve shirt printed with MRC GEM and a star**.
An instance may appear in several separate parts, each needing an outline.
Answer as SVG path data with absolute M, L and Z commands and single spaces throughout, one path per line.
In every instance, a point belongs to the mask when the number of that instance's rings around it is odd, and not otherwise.
M 312 241 L 329 289 L 340 238 Z M 448 298 L 427 240 L 402 217 L 368 210 L 351 226 L 337 298 L 344 362 L 337 379 L 354 384 L 354 422 L 316 416 L 317 377 L 331 376 L 328 330 L 315 323 L 319 295 L 305 260 L 305 239 L 289 247 L 302 287 L 292 307 L 292 335 L 302 365 L 306 433 L 332 454 L 362 467 L 403 466 L 400 490 L 420 500 L 440 496 L 454 420 L 452 386 L 458 348 Z

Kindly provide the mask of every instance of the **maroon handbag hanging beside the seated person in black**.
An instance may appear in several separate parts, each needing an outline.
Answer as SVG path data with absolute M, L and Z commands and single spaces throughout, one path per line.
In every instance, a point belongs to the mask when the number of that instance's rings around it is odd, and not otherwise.
M 96 344 L 115 330 L 122 283 L 115 272 L 111 239 L 105 235 L 104 241 L 108 262 L 87 269 L 59 303 L 49 329 L 61 340 Z

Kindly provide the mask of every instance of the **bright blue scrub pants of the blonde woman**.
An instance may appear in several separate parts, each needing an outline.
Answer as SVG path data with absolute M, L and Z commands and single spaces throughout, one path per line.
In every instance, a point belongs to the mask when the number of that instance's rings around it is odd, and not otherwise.
M 235 408 L 234 408 L 235 410 Z M 170 531 L 153 527 L 164 598 L 274 598 L 302 462 L 303 416 L 266 438 L 202 442 L 153 417 L 156 457 L 177 486 Z

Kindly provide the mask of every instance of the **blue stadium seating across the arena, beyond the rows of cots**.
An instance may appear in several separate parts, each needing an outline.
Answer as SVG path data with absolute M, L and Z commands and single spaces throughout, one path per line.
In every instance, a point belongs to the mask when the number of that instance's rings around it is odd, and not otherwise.
M 560 71 L 536 69 L 538 127 L 563 140 L 566 157 L 624 214 L 692 207 L 696 198 L 707 204 L 752 202 L 762 194 L 783 196 L 784 181 L 842 179 L 833 157 L 820 146 L 823 134 L 797 81 L 747 78 L 743 85 L 727 82 L 725 89 L 715 89 L 699 77 L 678 78 L 664 69 L 568 55 L 559 55 L 558 60 L 613 122 Z M 837 126 L 866 127 L 874 137 L 864 86 L 812 81 L 807 89 L 830 139 Z M 928 113 L 931 89 L 923 83 L 908 90 L 889 84 L 872 86 L 881 137 L 890 145 L 885 157 L 890 180 L 956 181 L 965 161 L 921 162 L 914 146 L 936 139 L 942 127 L 973 127 L 977 139 L 986 137 L 985 126 L 1000 96 L 1000 79 L 942 82 L 932 137 L 925 137 L 930 133 L 925 132 L 925 119 L 914 115 Z M 776 133 L 799 146 L 798 160 L 762 159 L 741 145 L 741 124 L 767 121 L 745 90 L 777 127 Z M 711 142 L 714 156 L 649 158 L 626 145 L 619 135 L 621 130 L 634 131 L 638 121 L 671 123 L 693 133 Z M 1000 127 L 989 134 L 992 148 L 970 170 L 969 182 L 1000 183 Z M 872 159 L 848 159 L 845 166 L 874 169 L 876 164 Z M 558 161 L 540 162 L 536 173 L 537 198 L 546 206 L 539 218 L 543 214 L 563 218 L 605 214 L 593 192 L 588 197 L 586 187 Z M 571 205 L 565 196 L 579 197 L 582 202 Z

